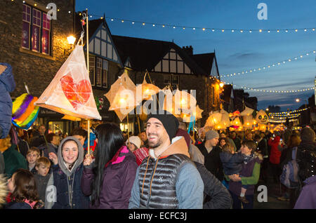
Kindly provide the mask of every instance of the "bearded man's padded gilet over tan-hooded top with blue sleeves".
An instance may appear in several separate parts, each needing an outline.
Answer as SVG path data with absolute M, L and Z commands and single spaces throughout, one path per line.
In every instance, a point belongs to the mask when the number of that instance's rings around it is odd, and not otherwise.
M 129 208 L 202 209 L 204 184 L 184 138 L 174 137 L 159 154 L 149 154 L 136 172 Z

